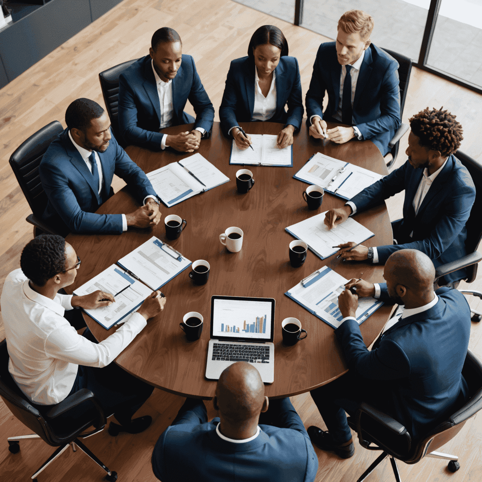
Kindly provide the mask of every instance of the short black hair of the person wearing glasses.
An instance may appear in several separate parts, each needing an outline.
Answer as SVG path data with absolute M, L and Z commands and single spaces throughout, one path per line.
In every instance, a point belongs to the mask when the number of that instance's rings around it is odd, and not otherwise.
M 58 234 L 41 234 L 22 251 L 20 268 L 37 286 L 44 286 L 58 273 L 65 270 L 65 239 Z

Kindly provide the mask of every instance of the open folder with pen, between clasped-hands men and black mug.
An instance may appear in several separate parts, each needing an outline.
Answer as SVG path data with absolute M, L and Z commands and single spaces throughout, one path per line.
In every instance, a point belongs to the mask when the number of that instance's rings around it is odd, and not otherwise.
M 203 158 L 199 152 L 147 173 L 147 179 L 167 207 L 229 181 L 228 176 Z

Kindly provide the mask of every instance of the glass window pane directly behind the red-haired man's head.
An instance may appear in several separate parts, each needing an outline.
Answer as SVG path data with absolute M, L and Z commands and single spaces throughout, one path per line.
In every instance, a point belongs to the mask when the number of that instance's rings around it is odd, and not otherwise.
M 377 47 L 385 47 L 416 61 L 429 5 L 430 0 L 304 0 L 300 25 L 335 39 L 336 26 L 343 13 L 363 10 L 375 20 L 371 40 Z

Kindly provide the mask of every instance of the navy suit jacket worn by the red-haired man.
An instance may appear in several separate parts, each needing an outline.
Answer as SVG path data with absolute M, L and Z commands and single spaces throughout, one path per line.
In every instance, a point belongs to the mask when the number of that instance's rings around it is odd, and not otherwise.
M 354 124 L 363 139 L 370 139 L 383 155 L 400 125 L 400 87 L 398 62 L 372 43 L 365 50 L 353 101 Z M 305 104 L 309 119 L 323 119 L 323 97 L 328 92 L 325 117 L 333 116 L 340 102 L 341 65 L 336 57 L 335 42 L 320 45 Z

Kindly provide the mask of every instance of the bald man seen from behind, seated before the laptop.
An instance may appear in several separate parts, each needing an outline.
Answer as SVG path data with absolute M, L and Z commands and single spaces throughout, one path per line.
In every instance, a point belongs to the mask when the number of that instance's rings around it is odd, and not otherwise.
M 220 416 L 208 422 L 202 400 L 188 398 L 154 447 L 154 475 L 162 482 L 314 481 L 318 458 L 290 399 L 268 402 L 264 393 L 253 365 L 228 366 L 213 399 Z

